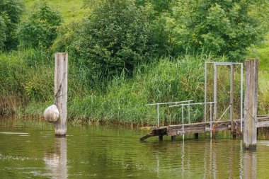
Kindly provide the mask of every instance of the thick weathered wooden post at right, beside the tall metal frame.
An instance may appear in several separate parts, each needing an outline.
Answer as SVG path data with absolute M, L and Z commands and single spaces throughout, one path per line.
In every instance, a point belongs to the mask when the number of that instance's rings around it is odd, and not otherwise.
M 244 145 L 246 149 L 254 150 L 257 142 L 258 67 L 258 59 L 245 62 Z

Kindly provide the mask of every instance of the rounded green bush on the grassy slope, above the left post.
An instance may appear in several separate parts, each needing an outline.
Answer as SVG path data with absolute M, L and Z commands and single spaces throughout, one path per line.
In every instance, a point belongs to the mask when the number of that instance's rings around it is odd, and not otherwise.
M 28 14 L 19 25 L 21 47 L 50 47 L 57 37 L 56 30 L 61 23 L 62 16 L 58 11 L 45 3 L 40 4 L 38 10 Z

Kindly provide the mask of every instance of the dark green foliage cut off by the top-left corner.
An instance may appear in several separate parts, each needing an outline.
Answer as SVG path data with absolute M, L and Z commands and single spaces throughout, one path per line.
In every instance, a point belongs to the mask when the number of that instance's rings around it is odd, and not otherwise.
M 16 29 L 22 13 L 22 1 L 0 0 L 0 50 L 12 50 L 17 47 Z

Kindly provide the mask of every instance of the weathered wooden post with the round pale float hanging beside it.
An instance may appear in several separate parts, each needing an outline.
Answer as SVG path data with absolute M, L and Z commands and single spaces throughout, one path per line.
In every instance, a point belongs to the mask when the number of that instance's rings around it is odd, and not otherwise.
M 67 66 L 68 54 L 55 54 L 55 102 L 59 119 L 55 122 L 55 135 L 67 134 Z

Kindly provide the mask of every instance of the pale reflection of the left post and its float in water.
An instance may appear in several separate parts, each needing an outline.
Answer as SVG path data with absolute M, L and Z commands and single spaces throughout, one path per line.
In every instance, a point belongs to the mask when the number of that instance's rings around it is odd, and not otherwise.
M 46 168 L 52 178 L 67 178 L 67 138 L 56 137 L 55 146 L 44 155 Z

